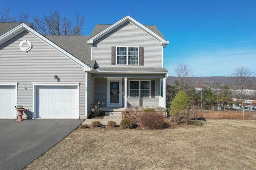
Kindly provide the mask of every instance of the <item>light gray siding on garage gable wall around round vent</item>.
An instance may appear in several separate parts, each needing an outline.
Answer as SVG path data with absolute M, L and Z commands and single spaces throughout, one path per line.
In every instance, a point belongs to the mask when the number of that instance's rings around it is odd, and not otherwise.
M 25 39 L 32 44 L 32 49 L 26 53 L 19 47 Z M 60 82 L 54 80 L 55 74 L 58 74 Z M 28 109 L 25 114 L 30 118 L 33 110 L 32 83 L 80 83 L 79 115 L 85 115 L 83 68 L 27 31 L 0 45 L 0 83 L 17 82 L 17 104 Z

